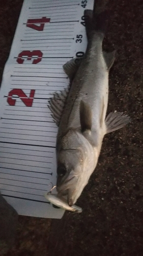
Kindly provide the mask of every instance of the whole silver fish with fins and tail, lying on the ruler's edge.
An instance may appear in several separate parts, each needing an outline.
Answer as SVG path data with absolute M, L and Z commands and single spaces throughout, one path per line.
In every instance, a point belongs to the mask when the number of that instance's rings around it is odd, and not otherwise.
M 99 1 L 100 2 L 100 1 Z M 105 12 L 96 5 L 85 10 L 88 45 L 80 59 L 63 66 L 70 86 L 54 93 L 49 101 L 52 117 L 58 125 L 56 137 L 58 197 L 67 196 L 70 207 L 76 203 L 94 172 L 106 134 L 130 122 L 123 112 L 111 112 L 108 104 L 108 76 L 115 61 L 115 51 L 102 50 Z

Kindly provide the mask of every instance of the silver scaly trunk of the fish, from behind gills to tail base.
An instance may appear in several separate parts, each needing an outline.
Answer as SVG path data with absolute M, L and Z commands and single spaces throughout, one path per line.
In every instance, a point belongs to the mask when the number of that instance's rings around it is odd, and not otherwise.
M 95 33 L 72 81 L 67 102 L 61 117 L 58 137 L 71 127 L 80 127 L 80 101 L 92 111 L 92 131 L 99 131 L 101 111 L 105 119 L 108 101 L 108 69 L 102 53 L 101 33 Z M 102 123 L 102 126 L 104 124 Z

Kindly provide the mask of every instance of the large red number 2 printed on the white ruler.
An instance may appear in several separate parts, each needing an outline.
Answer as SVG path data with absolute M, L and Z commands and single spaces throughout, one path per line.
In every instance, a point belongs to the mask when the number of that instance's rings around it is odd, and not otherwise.
M 27 97 L 26 94 L 21 89 L 13 89 L 9 92 L 7 101 L 9 105 L 15 106 L 16 99 L 12 99 L 13 95 L 17 95 L 26 106 L 32 106 L 34 99 L 35 90 L 31 90 L 30 96 Z

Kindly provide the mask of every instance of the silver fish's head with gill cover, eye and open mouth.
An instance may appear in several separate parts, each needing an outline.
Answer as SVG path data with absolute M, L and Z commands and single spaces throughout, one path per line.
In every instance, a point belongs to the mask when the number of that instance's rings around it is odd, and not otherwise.
M 87 185 L 98 158 L 96 151 L 80 132 L 71 132 L 57 152 L 58 195 L 67 195 L 72 206 Z

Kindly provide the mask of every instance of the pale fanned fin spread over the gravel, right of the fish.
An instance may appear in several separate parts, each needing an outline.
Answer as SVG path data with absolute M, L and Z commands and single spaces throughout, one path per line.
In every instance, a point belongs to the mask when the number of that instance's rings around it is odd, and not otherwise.
M 111 112 L 105 119 L 106 133 L 114 132 L 131 121 L 123 112 Z

